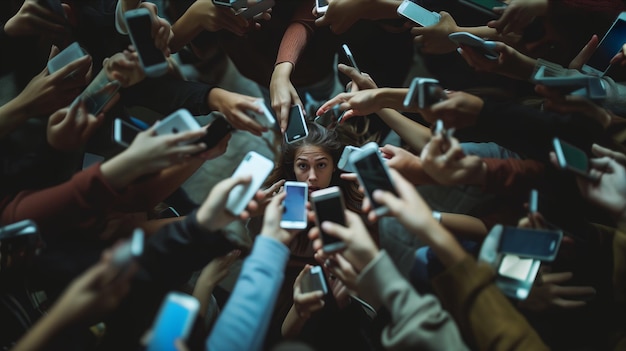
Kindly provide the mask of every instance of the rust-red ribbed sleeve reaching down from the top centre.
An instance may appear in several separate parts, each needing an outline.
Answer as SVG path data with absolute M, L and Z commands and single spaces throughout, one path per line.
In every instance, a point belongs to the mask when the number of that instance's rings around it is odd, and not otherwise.
M 315 6 L 313 1 L 304 1 L 296 11 L 280 42 L 275 65 L 291 62 L 295 67 L 309 38 L 315 31 L 315 17 L 311 13 L 313 6 Z

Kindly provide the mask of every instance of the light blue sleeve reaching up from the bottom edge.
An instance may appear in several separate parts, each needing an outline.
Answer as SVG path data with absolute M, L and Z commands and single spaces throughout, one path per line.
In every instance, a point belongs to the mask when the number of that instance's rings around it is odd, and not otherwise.
M 288 258 L 289 250 L 279 241 L 262 235 L 256 238 L 209 335 L 208 350 L 261 350 Z

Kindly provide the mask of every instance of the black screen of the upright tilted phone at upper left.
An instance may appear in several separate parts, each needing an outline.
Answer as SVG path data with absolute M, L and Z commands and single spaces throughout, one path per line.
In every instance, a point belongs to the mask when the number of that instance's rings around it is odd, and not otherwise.
M 128 29 L 132 32 L 133 43 L 141 55 L 141 61 L 145 67 L 154 66 L 165 61 L 161 50 L 154 46 L 152 39 L 152 20 L 150 15 L 126 17 Z

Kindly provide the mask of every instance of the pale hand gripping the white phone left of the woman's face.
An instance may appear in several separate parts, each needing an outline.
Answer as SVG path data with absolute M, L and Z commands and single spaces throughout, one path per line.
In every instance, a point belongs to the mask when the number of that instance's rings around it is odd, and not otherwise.
M 247 176 L 226 178 L 217 183 L 213 189 L 211 189 L 206 200 L 200 205 L 198 212 L 196 212 L 196 219 L 200 226 L 209 231 L 217 231 L 237 219 L 237 217 L 226 210 L 228 194 L 235 186 L 239 184 L 249 184 L 250 181 L 252 181 L 252 178 Z M 250 201 L 247 209 L 241 212 L 238 218 L 241 220 L 248 219 L 250 217 L 248 211 L 256 209 L 257 206 L 256 201 Z

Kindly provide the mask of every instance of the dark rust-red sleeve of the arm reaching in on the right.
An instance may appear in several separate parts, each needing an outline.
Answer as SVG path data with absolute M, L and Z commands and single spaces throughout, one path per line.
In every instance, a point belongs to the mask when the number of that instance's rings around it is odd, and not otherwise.
M 487 178 L 484 190 L 492 193 L 526 194 L 542 179 L 543 163 L 514 158 L 484 158 Z

